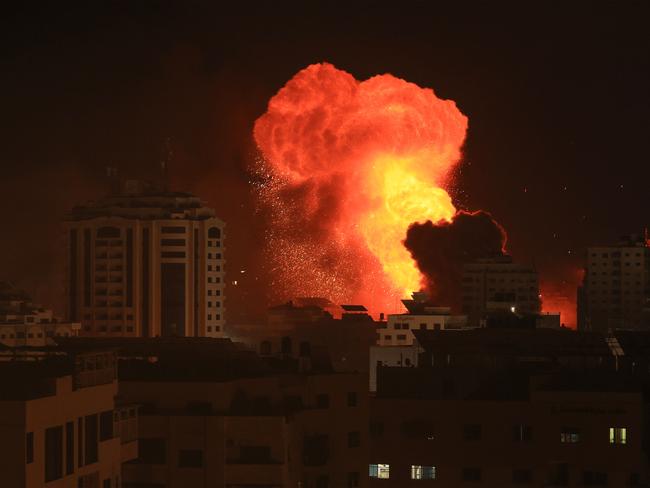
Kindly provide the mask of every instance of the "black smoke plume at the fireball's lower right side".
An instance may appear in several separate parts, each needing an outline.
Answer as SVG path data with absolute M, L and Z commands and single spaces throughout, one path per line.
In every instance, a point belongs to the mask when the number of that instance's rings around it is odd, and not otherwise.
M 424 291 L 436 305 L 460 310 L 463 264 L 505 254 L 507 235 L 492 216 L 459 211 L 451 222 L 409 227 L 404 245 L 424 275 Z

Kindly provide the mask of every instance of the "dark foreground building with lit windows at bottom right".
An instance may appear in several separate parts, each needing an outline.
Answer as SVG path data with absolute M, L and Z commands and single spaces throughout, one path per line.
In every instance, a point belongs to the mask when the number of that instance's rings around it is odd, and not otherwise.
M 567 330 L 415 335 L 417 366 L 379 369 L 370 486 L 647 486 L 638 358 Z

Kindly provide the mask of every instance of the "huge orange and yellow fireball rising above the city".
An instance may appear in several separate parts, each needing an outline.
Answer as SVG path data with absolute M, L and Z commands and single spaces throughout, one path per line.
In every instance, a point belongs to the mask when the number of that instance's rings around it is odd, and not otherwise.
M 397 310 L 422 286 L 409 225 L 456 212 L 447 189 L 466 130 L 453 101 L 392 75 L 297 73 L 254 129 L 277 298 Z

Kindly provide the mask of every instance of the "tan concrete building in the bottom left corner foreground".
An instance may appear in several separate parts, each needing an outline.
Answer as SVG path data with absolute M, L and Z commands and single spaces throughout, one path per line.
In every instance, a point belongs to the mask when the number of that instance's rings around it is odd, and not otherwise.
M 120 488 L 137 407 L 116 406 L 111 352 L 22 351 L 0 361 L 0 484 Z

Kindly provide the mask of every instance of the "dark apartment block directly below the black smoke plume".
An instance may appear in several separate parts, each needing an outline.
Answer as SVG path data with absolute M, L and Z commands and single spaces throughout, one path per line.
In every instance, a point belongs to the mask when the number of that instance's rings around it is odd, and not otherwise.
M 510 256 L 479 259 L 463 267 L 462 311 L 470 324 L 499 309 L 519 314 L 541 310 L 539 277 L 534 267 L 518 264 Z

